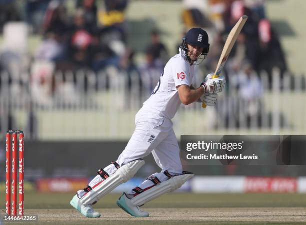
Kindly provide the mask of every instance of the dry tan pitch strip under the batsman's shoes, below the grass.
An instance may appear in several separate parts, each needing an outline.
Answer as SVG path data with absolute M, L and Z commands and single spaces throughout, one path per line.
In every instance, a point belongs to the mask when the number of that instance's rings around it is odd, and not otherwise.
M 120 209 L 98 209 L 101 218 L 75 210 L 28 210 L 39 224 L 306 224 L 306 208 L 170 208 L 147 209 L 149 218 L 133 218 Z

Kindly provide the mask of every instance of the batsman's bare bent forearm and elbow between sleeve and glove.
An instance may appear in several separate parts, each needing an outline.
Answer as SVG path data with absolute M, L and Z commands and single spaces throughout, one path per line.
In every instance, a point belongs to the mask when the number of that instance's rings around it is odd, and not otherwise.
M 178 85 L 177 87 L 178 96 L 184 105 L 188 105 L 192 102 L 195 102 L 197 99 L 200 98 L 202 94 L 204 94 L 204 88 L 202 86 L 191 89 L 188 85 Z

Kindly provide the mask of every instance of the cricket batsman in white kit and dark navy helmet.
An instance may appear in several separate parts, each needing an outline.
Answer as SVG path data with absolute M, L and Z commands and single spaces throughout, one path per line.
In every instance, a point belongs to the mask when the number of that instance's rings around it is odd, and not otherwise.
M 208 35 L 201 28 L 191 28 L 182 38 L 179 53 L 166 63 L 160 79 L 135 116 L 135 130 L 116 161 L 98 170 L 83 190 L 77 191 L 70 205 L 85 217 L 100 217 L 92 208 L 100 198 L 128 181 L 143 166 L 143 158 L 152 153 L 161 168 L 137 187 L 123 192 L 117 205 L 134 217 L 148 217 L 140 209 L 145 203 L 174 191 L 193 174 L 182 171 L 179 147 L 171 119 L 180 104 L 204 102 L 214 106 L 217 93 L 223 90 L 223 76 L 208 74 L 198 88 L 192 87 L 194 68 L 209 50 Z

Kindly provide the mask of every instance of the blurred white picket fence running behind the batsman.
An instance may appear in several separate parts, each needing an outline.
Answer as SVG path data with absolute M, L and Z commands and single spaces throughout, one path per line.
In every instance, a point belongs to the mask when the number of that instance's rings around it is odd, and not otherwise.
M 108 67 L 92 71 L 48 70 L 9 76 L 0 74 L 0 137 L 8 129 L 24 130 L 25 138 L 128 139 L 134 115 L 149 97 L 160 72 L 150 76 Z M 129 78 L 128 78 L 129 77 Z M 203 79 L 198 72 L 194 85 Z M 238 79 L 239 77 L 239 79 Z M 256 78 L 257 77 L 257 78 Z M 294 79 L 292 79 L 292 77 Z M 140 85 L 140 80 L 142 85 Z M 241 83 L 237 83 L 240 80 Z M 251 78 L 228 75 L 226 90 L 216 107 L 200 103 L 181 105 L 173 118 L 179 135 L 306 134 L 305 79 L 280 78 L 274 69 L 271 87 L 265 72 Z

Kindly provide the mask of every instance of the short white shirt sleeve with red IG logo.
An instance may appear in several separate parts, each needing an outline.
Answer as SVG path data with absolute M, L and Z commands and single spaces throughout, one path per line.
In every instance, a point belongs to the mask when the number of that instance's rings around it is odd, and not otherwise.
M 175 87 L 182 84 L 190 86 L 192 84 L 192 78 L 189 75 L 190 71 L 188 68 L 190 66 L 181 60 L 172 61 L 172 63 L 171 75 L 173 76 Z

